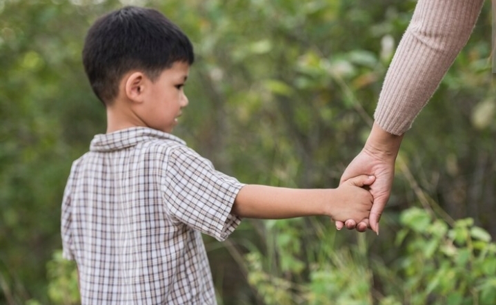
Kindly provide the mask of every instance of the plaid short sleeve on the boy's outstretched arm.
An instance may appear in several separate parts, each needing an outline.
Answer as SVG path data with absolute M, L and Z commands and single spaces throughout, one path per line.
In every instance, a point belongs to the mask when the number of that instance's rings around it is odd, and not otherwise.
M 164 178 L 164 204 L 172 218 L 217 240 L 225 240 L 239 225 L 230 211 L 244 185 L 192 149 L 172 150 Z

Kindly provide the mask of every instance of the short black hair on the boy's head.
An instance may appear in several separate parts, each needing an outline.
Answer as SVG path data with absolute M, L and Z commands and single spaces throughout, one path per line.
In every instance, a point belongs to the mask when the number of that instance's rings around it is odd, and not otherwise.
M 83 65 L 103 104 L 117 97 L 119 81 L 141 70 L 152 81 L 176 61 L 195 61 L 192 43 L 174 23 L 151 8 L 126 6 L 100 17 L 84 42 Z

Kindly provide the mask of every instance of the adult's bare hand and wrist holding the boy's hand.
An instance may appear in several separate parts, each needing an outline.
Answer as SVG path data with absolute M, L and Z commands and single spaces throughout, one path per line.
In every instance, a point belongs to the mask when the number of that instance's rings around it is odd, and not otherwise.
M 402 139 L 403 136 L 389 134 L 374 123 L 364 149 L 346 167 L 340 182 L 341 184 L 359 175 L 375 176 L 375 182 L 369 186 L 374 198 L 370 215 L 368 219 L 361 220 L 358 224 L 354 220 L 346 220 L 345 223 L 336 222 L 338 230 L 346 224 L 348 229 L 356 227 L 357 231 L 364 232 L 370 228 L 379 234 L 379 220 L 390 196 L 395 176 L 395 160 Z

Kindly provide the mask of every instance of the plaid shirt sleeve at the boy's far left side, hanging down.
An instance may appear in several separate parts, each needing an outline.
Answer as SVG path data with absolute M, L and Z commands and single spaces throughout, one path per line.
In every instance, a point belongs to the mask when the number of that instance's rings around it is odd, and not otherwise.
M 73 166 L 74 168 L 74 166 Z M 62 235 L 62 256 L 66 260 L 74 260 L 72 252 L 72 207 L 70 202 L 70 193 L 72 189 L 72 170 L 68 178 L 66 189 L 63 192 L 62 211 L 61 211 L 61 235 Z

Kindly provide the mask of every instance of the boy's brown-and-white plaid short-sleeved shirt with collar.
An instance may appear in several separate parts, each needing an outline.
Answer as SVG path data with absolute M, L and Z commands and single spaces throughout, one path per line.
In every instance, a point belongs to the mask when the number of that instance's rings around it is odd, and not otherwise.
M 216 304 L 201 233 L 234 231 L 241 187 L 170 134 L 95 136 L 62 203 L 63 255 L 77 262 L 82 304 Z

